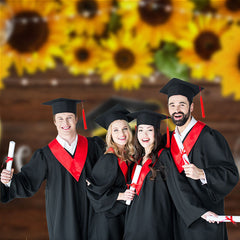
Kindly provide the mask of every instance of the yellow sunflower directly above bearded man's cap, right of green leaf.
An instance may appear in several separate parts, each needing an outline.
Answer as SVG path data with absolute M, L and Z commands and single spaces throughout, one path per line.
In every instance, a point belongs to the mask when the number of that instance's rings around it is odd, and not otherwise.
M 178 41 L 178 57 L 191 68 L 193 78 L 214 79 L 212 56 L 221 49 L 221 36 L 228 29 L 226 21 L 211 15 L 201 15 L 189 23 L 188 31 Z

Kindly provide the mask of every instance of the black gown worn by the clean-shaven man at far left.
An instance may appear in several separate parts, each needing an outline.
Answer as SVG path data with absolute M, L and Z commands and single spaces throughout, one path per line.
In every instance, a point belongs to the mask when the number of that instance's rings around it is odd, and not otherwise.
M 1 184 L 1 201 L 31 197 L 46 180 L 46 216 L 49 239 L 87 240 L 91 209 L 87 199 L 86 178 L 103 154 L 102 140 L 88 138 L 88 153 L 78 181 L 61 165 L 49 146 L 37 150 L 21 172 L 14 174 L 11 186 Z M 89 213 L 90 212 L 90 213 Z

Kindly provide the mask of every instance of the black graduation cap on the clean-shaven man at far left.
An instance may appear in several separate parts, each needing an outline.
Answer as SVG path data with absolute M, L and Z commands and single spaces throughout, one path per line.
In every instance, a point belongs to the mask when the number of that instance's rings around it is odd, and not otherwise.
M 76 114 L 77 103 L 82 100 L 68 99 L 68 98 L 57 98 L 48 102 L 44 102 L 43 105 L 52 106 L 53 114 L 70 112 Z

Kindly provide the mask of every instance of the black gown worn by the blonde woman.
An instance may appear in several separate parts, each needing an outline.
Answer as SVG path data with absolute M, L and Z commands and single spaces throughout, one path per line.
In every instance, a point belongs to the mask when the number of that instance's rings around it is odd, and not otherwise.
M 88 186 L 88 198 L 94 209 L 89 240 L 122 239 L 126 205 L 117 197 L 126 188 L 125 176 L 117 156 L 113 153 L 104 154 L 94 166 L 91 184 Z

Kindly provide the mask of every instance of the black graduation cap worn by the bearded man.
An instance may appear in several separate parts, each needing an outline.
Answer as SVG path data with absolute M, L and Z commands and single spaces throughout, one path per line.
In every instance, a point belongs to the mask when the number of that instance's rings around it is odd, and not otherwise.
M 178 78 L 172 78 L 161 90 L 161 93 L 167 94 L 168 98 L 173 95 L 183 95 L 188 98 L 189 102 L 192 103 L 193 97 L 197 95 L 202 87 L 195 84 L 185 82 Z

